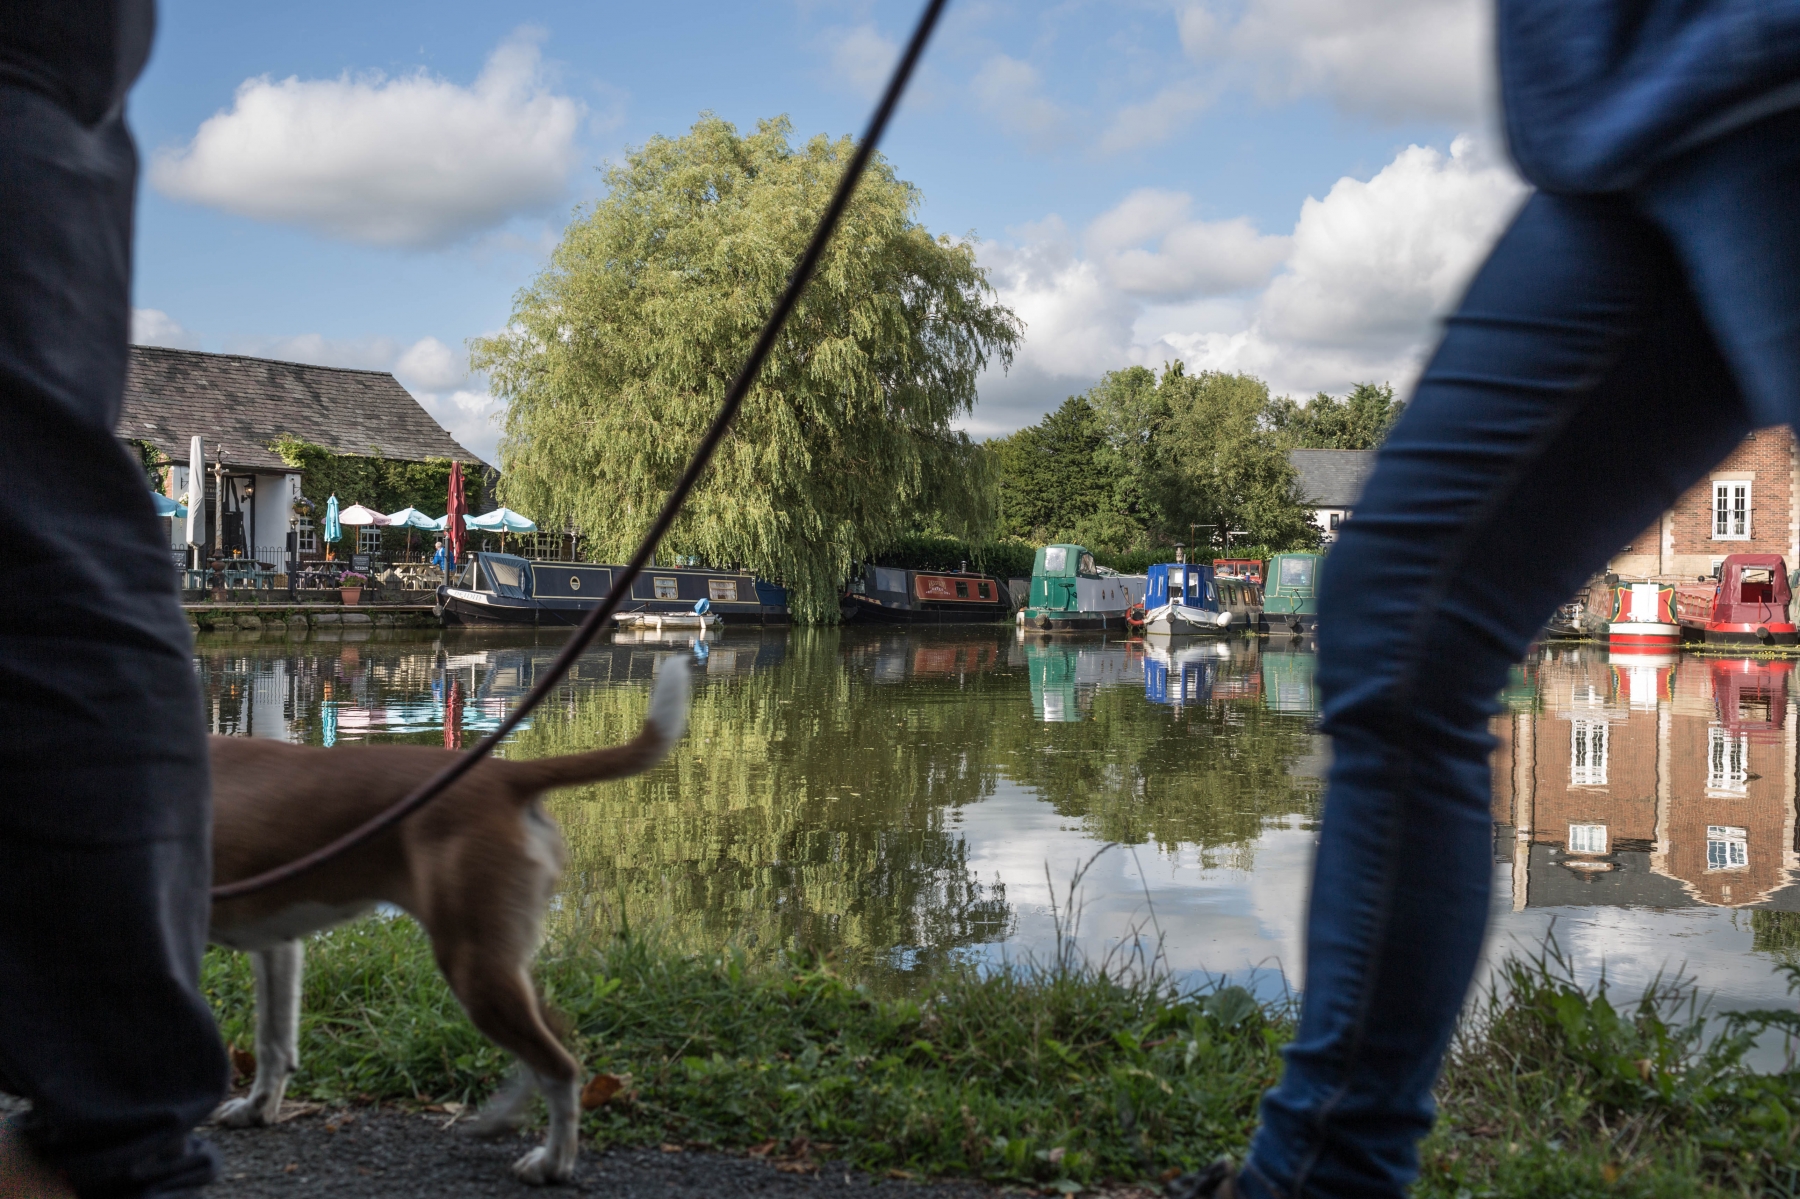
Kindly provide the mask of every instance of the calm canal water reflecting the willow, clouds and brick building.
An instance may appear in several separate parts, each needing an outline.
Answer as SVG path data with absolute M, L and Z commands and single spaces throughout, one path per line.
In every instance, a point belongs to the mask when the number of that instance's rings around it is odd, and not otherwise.
M 623 637 L 625 634 L 621 634 Z M 461 747 L 560 645 L 540 634 L 202 637 L 212 729 L 355 753 Z M 1012 628 L 727 630 L 619 641 L 504 747 L 632 735 L 659 659 L 697 666 L 691 726 L 644 776 L 560 792 L 553 922 L 833 954 L 864 978 L 1157 952 L 1265 996 L 1303 985 L 1301 916 L 1328 747 L 1312 654 L 1163 654 Z M 1786 1003 L 1800 958 L 1791 663 L 1627 664 L 1593 646 L 1516 668 L 1494 722 L 1490 958 L 1546 934 L 1588 979 L 1685 970 L 1723 1008 Z M 1111 846 L 1111 848 L 1109 848 Z M 1417 870 L 1435 870 L 1429 844 Z

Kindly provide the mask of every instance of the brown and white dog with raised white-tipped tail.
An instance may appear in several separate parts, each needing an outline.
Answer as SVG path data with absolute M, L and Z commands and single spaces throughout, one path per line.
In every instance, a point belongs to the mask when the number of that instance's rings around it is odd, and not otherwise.
M 432 940 L 445 981 L 470 1021 L 518 1057 L 513 1080 L 472 1131 L 515 1127 L 533 1089 L 549 1105 L 544 1145 L 513 1163 L 526 1183 L 574 1172 L 581 1068 L 545 1024 L 531 985 L 544 909 L 565 853 L 540 799 L 646 771 L 688 724 L 688 663 L 666 659 L 635 738 L 583 754 L 488 758 L 450 790 L 367 844 L 266 891 L 212 906 L 211 938 L 254 954 L 256 1082 L 220 1107 L 229 1127 L 272 1123 L 299 1066 L 301 938 L 378 904 L 409 913 Z M 454 751 L 428 745 L 313 749 L 211 738 L 212 880 L 263 873 L 356 828 L 441 771 Z

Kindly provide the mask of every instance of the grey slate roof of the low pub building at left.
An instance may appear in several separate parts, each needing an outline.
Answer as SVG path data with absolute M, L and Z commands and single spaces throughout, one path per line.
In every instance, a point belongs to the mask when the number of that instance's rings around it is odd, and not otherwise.
M 225 446 L 227 466 L 288 470 L 268 443 L 293 434 L 338 454 L 482 464 L 387 371 L 162 346 L 131 347 L 115 432 L 176 463 L 187 463 L 189 437 L 200 434 L 209 455 Z

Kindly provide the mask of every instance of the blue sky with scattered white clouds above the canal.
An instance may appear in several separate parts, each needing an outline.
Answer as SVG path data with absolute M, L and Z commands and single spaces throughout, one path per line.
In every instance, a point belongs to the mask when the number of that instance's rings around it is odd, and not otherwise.
M 392 371 L 499 464 L 468 340 L 601 171 L 702 112 L 859 133 L 887 0 L 164 0 L 133 337 Z M 1024 320 L 970 434 L 1127 365 L 1406 391 L 1525 194 L 1483 0 L 952 0 L 882 146 Z

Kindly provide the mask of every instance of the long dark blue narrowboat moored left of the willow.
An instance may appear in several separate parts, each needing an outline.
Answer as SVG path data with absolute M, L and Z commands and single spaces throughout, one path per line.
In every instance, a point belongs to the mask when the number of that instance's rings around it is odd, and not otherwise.
M 580 625 L 623 571 L 477 551 L 437 589 L 437 616 L 445 625 Z M 787 589 L 742 571 L 707 567 L 644 567 L 619 612 L 691 618 L 700 600 L 731 625 L 788 623 Z

